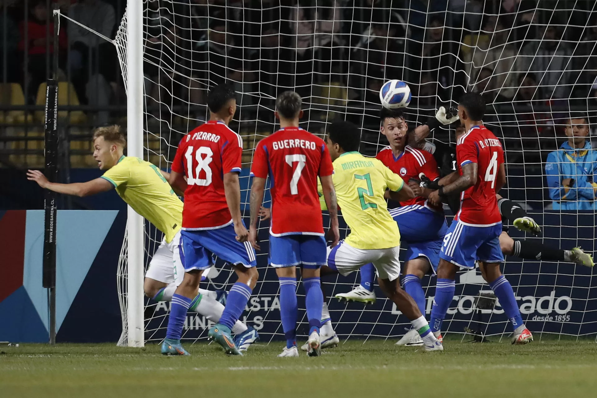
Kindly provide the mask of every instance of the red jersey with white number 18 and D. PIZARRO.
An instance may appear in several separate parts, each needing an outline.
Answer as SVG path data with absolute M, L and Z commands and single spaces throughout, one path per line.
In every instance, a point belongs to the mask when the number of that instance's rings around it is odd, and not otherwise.
M 217 229 L 232 223 L 224 174 L 241 172 L 241 156 L 241 136 L 223 122 L 204 123 L 180 140 L 172 171 L 187 177 L 183 229 Z

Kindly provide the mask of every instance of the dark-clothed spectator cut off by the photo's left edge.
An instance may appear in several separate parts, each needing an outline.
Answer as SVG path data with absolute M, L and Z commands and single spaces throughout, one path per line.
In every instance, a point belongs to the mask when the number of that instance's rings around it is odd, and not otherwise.
M 6 5 L 4 7 L 7 7 Z M 20 57 L 17 55 L 20 35 L 19 27 L 14 23 L 10 14 L 6 14 L 6 22 L 4 20 L 4 10 L 0 6 L 0 54 L 5 57 L 5 60 L 0 58 L 0 82 L 16 83 L 23 78 L 23 71 L 21 70 Z M 6 34 L 4 35 L 4 32 Z M 4 63 L 6 62 L 6 70 L 4 70 Z M 4 74 L 6 73 L 6 80 Z

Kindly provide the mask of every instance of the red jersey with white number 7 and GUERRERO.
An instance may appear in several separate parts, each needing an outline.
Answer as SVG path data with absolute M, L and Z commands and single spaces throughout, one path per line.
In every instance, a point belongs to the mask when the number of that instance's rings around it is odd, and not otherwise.
M 302 128 L 282 128 L 259 141 L 251 174 L 271 179 L 273 236 L 324 235 L 317 177 L 333 172 L 324 140 Z

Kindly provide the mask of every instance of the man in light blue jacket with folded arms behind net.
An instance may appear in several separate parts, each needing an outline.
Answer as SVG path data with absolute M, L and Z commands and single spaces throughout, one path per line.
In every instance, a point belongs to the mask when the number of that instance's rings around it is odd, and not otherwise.
M 568 141 L 547 155 L 545 172 L 553 209 L 595 209 L 597 196 L 597 150 L 591 148 L 589 120 L 586 117 L 566 120 Z

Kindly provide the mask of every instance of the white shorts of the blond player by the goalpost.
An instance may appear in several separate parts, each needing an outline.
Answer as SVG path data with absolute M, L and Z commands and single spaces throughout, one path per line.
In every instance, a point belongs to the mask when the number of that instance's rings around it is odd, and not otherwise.
M 158 249 L 153 253 L 145 277 L 168 283 L 168 285 L 172 282 L 176 282 L 176 286 L 180 285 L 184 278 L 184 264 L 180 260 L 180 244 L 180 231 L 174 235 L 170 243 L 166 243 L 164 237 Z

